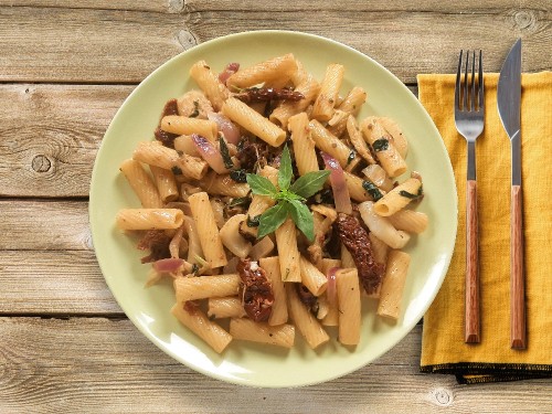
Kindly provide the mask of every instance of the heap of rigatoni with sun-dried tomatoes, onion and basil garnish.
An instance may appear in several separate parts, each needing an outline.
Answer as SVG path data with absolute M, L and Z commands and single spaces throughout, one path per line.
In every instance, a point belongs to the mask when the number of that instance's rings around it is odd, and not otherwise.
M 233 339 L 290 348 L 296 330 L 311 349 L 336 331 L 358 346 L 370 300 L 400 318 L 402 250 L 428 216 L 414 210 L 421 176 L 401 177 L 399 125 L 357 119 L 367 93 L 343 88 L 339 63 L 321 79 L 293 54 L 199 61 L 190 76 L 199 89 L 160 117 L 170 139 L 139 142 L 120 166 L 141 208 L 120 210 L 116 225 L 148 251 L 147 286 L 171 277 L 172 315 L 215 352 Z

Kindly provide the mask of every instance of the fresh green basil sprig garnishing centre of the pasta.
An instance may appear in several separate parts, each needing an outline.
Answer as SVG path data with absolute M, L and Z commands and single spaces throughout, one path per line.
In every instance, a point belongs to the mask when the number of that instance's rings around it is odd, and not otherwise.
M 294 183 L 291 179 L 291 157 L 284 147 L 278 170 L 279 190 L 265 177 L 248 173 L 247 183 L 253 194 L 267 195 L 276 200 L 276 204 L 266 210 L 259 217 L 257 238 L 262 238 L 278 229 L 288 216 L 295 222 L 305 236 L 315 240 L 315 221 L 305 201 L 322 189 L 330 171 L 314 171 L 299 177 Z

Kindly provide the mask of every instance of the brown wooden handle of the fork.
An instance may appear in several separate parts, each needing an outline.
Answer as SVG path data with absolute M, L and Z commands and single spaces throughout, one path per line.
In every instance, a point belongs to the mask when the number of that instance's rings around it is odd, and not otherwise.
M 479 254 L 477 219 L 477 181 L 468 180 L 466 185 L 466 299 L 465 342 L 480 341 L 479 316 Z

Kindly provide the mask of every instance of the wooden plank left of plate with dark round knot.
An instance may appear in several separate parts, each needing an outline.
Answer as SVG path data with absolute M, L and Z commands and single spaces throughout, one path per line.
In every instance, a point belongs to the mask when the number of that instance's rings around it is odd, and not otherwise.
M 102 137 L 132 89 L 0 85 L 0 195 L 87 197 Z

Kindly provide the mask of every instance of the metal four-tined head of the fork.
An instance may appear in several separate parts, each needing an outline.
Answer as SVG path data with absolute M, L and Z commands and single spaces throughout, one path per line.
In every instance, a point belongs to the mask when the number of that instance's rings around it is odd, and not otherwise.
M 484 130 L 485 121 L 485 85 L 482 75 L 482 52 L 479 51 L 478 70 L 476 75 L 476 52 L 460 51 L 456 88 L 454 94 L 454 119 L 456 129 L 468 141 L 475 141 Z M 471 57 L 471 59 L 470 59 Z M 471 63 L 471 64 L 470 64 Z M 469 68 L 471 71 L 469 71 Z M 471 74 L 469 74 L 471 72 Z

